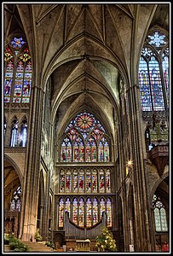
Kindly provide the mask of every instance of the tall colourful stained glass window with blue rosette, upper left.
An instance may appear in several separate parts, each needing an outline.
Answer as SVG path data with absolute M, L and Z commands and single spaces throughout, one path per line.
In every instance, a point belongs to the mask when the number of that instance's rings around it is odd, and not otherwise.
M 32 62 L 23 38 L 14 38 L 4 50 L 4 102 L 29 103 Z

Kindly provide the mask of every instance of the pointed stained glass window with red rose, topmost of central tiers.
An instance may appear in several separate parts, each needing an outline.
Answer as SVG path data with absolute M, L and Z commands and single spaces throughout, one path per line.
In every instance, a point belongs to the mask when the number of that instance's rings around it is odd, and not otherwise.
M 86 110 L 66 127 L 61 142 L 61 162 L 110 161 L 109 137 L 98 119 Z

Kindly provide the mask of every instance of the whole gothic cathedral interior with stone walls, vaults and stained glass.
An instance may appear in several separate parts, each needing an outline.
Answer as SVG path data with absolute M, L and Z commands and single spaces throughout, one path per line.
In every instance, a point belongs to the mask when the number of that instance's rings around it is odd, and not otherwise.
M 4 233 L 170 242 L 169 52 L 170 3 L 3 3 Z

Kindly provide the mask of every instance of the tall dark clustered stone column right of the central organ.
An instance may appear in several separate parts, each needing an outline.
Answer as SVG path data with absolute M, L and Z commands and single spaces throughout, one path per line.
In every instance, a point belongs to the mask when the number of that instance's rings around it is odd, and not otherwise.
M 136 251 L 148 252 L 150 250 L 150 231 L 147 212 L 147 188 L 145 168 L 143 162 L 143 145 L 141 133 L 141 107 L 140 91 L 136 84 L 127 90 L 130 104 L 130 137 L 131 156 L 133 161 L 133 186 L 136 191 L 134 195 L 135 223 L 136 223 Z

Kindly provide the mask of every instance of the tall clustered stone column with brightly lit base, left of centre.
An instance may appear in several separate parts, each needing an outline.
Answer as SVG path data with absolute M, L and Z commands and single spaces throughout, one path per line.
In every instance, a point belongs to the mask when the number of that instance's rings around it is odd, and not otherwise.
M 37 229 L 37 204 L 39 193 L 41 134 L 43 121 L 43 90 L 32 87 L 26 167 L 21 201 L 20 238 L 35 241 Z

